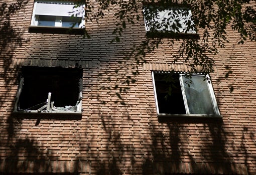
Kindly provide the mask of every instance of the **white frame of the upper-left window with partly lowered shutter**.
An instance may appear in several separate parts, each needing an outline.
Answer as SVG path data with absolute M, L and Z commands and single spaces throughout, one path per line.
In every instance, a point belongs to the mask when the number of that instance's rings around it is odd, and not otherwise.
M 70 29 L 71 27 L 62 27 L 62 18 L 65 17 L 65 16 L 59 16 L 59 15 L 47 15 L 47 16 L 55 16 L 55 25 L 54 26 L 38 26 L 38 18 L 40 15 L 36 14 L 36 8 L 37 8 L 37 4 L 38 3 L 45 3 L 45 4 L 48 4 L 50 3 L 48 0 L 35 0 L 34 1 L 34 7 L 33 7 L 33 14 L 32 14 L 32 18 L 31 18 L 31 27 L 38 27 L 38 28 L 68 28 Z M 57 4 L 57 3 L 64 3 L 65 1 L 51 1 L 53 4 Z M 74 3 L 74 1 L 66 1 L 66 3 L 69 2 L 69 3 Z M 75 6 L 75 5 L 74 5 Z M 83 8 L 85 7 L 84 5 L 82 6 Z M 69 12 L 68 12 L 69 13 Z M 85 20 L 84 20 L 84 14 L 85 11 L 83 10 L 82 12 L 82 15 L 81 17 L 76 17 L 76 13 L 73 13 L 74 15 L 74 18 L 82 18 L 81 19 L 81 23 L 78 24 L 78 27 L 73 27 L 73 29 L 83 29 L 85 28 Z M 72 15 L 71 15 L 72 16 Z M 70 17 L 71 17 L 70 16 Z

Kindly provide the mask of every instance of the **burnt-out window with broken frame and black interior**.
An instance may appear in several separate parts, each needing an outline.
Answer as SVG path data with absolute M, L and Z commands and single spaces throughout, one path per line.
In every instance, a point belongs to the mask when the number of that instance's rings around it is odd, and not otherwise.
M 82 69 L 22 67 L 16 112 L 81 113 Z

